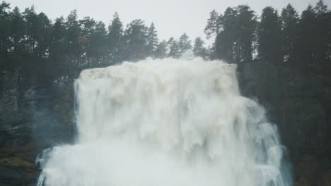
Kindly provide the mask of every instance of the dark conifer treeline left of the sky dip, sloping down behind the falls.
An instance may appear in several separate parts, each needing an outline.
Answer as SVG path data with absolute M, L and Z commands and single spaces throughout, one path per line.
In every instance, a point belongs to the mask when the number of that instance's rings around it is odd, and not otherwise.
M 202 46 L 202 39 L 198 41 Z M 21 12 L 18 7 L 11 11 L 5 1 L 0 5 L 0 69 L 47 78 L 76 77 L 85 68 L 148 56 L 176 58 L 191 49 L 186 34 L 159 42 L 154 24 L 147 26 L 140 19 L 124 29 L 117 13 L 106 27 L 90 17 L 79 20 L 76 11 L 50 20 L 34 6 Z

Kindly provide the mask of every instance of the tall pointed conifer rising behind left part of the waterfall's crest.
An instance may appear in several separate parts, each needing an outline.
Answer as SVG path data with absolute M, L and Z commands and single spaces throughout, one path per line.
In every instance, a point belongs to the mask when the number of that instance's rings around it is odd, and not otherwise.
M 115 12 L 112 23 L 108 27 L 108 53 L 110 54 L 110 61 L 113 63 L 123 60 L 122 50 L 122 37 L 123 37 L 123 25 Z

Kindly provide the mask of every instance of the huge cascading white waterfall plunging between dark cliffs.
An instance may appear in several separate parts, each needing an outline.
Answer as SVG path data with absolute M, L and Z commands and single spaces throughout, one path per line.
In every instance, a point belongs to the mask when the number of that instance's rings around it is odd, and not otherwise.
M 75 145 L 44 151 L 38 185 L 288 186 L 275 125 L 236 66 L 147 59 L 84 70 Z

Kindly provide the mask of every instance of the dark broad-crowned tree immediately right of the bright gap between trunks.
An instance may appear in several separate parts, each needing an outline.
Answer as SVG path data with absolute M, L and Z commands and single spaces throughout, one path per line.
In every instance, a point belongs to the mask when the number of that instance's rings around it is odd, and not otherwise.
M 274 8 L 267 6 L 262 10 L 258 26 L 258 53 L 263 61 L 280 63 L 281 54 L 281 21 Z

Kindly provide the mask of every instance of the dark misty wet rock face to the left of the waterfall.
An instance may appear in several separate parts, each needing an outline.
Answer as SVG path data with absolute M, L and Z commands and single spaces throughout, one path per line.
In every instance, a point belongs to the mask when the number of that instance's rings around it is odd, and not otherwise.
M 0 82 L 0 185 L 34 185 L 37 154 L 72 140 L 72 81 L 37 82 L 15 71 L 1 72 Z

